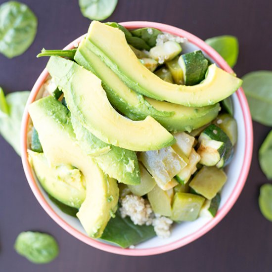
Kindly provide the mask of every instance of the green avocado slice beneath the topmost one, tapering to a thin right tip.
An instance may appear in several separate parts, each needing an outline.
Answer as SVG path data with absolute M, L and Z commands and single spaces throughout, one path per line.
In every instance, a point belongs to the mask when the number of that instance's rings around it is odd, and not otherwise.
M 91 71 L 102 81 L 110 103 L 132 120 L 143 120 L 148 115 L 171 116 L 174 113 L 160 111 L 152 107 L 141 94 L 132 91 L 118 76 L 90 49 L 90 42 L 83 39 L 75 54 L 75 61 Z

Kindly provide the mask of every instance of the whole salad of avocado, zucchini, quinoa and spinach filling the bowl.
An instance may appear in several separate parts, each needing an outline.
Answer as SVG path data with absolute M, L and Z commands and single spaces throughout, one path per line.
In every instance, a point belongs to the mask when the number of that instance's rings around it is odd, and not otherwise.
M 25 113 L 24 166 L 56 221 L 135 250 L 215 220 L 238 139 L 234 73 L 185 37 L 98 21 L 40 55 L 49 74 Z

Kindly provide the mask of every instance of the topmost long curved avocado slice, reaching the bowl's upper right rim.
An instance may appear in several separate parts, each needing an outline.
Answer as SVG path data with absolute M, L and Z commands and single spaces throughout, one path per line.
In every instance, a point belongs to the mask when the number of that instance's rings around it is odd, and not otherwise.
M 194 86 L 171 84 L 161 80 L 139 63 L 127 44 L 124 33 L 119 29 L 92 21 L 86 38 L 91 42 L 91 50 L 127 86 L 157 100 L 184 106 L 207 106 L 223 100 L 242 84 L 242 80 L 215 64 L 209 66 L 206 78 L 200 84 Z

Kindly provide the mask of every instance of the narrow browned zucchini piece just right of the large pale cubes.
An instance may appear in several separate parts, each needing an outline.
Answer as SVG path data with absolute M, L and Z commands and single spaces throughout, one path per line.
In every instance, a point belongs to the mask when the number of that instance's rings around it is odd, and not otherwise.
M 196 165 L 200 161 L 200 156 L 192 148 L 189 156 L 189 163 L 176 175 L 176 180 L 181 184 L 185 184 L 189 181 L 191 175 L 197 170 Z

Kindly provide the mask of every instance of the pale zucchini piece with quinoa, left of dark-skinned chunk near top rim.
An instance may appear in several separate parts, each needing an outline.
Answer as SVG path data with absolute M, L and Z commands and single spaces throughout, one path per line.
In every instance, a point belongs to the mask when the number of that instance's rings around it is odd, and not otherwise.
M 160 64 L 164 61 L 172 60 L 181 52 L 181 45 L 177 42 L 168 41 L 163 45 L 157 45 L 150 49 L 149 56 L 157 60 Z

